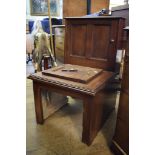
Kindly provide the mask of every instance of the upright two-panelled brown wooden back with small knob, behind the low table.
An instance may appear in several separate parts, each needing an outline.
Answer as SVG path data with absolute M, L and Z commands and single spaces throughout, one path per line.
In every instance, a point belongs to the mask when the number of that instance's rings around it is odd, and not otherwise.
M 67 18 L 65 63 L 114 71 L 121 18 Z M 120 30 L 122 29 L 122 30 Z

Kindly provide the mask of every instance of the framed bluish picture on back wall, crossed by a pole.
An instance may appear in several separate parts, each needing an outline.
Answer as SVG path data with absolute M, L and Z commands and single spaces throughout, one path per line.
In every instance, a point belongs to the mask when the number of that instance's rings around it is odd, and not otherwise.
M 30 0 L 30 12 L 32 16 L 48 15 L 48 0 Z M 59 0 L 50 0 L 51 16 L 60 16 Z

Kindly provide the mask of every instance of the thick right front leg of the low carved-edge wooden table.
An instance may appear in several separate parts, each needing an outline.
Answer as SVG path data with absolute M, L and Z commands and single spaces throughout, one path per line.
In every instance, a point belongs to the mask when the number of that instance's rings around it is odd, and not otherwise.
M 103 94 L 84 99 L 82 142 L 88 146 L 103 125 Z

